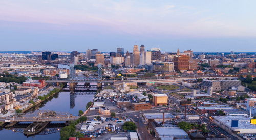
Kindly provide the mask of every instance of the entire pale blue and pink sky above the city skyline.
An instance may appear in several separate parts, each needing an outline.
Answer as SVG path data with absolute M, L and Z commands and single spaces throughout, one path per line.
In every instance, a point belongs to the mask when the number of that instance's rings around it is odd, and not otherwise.
M 256 1 L 0 0 L 1 51 L 256 52 Z

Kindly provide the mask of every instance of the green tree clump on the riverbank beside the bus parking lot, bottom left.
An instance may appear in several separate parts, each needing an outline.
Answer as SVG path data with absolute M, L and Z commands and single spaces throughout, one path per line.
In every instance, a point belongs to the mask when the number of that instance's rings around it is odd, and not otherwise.
M 65 126 L 61 128 L 60 130 L 60 137 L 61 140 L 67 140 L 69 137 L 83 137 L 83 134 L 80 132 L 76 132 L 76 125 L 79 122 L 86 121 L 87 117 L 82 116 L 81 118 L 77 119 L 76 121 L 71 121 L 71 124 L 69 126 Z

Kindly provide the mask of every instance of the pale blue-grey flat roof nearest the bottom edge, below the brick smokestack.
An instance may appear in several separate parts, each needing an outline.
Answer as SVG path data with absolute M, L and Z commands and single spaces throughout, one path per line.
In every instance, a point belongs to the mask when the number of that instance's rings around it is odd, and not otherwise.
M 163 127 L 163 128 L 155 128 L 159 136 L 163 135 L 187 135 L 187 133 L 176 127 Z

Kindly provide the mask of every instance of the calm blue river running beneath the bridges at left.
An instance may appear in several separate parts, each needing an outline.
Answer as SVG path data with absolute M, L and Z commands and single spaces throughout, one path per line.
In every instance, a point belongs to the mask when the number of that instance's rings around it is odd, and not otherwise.
M 62 65 L 62 68 L 68 68 L 69 66 Z M 70 103 L 70 93 L 69 92 L 60 92 L 54 95 L 52 98 L 43 102 L 41 105 L 38 105 L 31 110 L 42 109 L 42 110 L 53 110 L 63 113 L 69 113 L 73 116 L 78 116 L 79 110 L 86 111 L 86 104 L 90 101 L 93 101 L 94 95 L 74 95 L 74 103 Z M 23 123 L 32 123 L 32 122 L 23 122 Z M 64 123 L 64 122 L 52 122 L 52 123 Z M 22 132 L 14 132 L 15 128 L 5 129 L 0 128 L 0 139 L 60 139 L 59 132 L 47 134 L 47 135 L 35 135 L 31 137 L 25 136 Z

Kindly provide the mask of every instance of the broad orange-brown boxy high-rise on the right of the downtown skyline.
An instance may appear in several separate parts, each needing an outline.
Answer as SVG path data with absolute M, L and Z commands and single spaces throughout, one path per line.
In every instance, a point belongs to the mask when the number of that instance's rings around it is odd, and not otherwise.
M 174 70 L 186 71 L 189 70 L 189 56 L 177 55 L 174 57 Z

